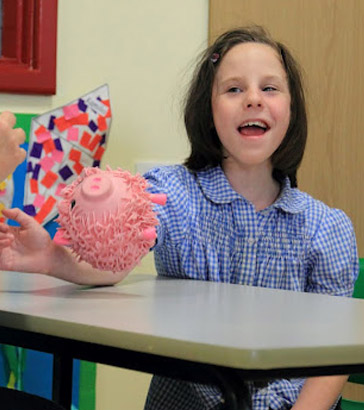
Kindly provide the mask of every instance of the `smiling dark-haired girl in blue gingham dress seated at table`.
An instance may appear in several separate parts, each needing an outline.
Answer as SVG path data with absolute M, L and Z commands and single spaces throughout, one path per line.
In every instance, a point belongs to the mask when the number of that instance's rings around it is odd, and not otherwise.
M 259 27 L 230 31 L 207 49 L 185 106 L 191 154 L 184 166 L 146 174 L 158 208 L 159 275 L 351 296 L 358 273 L 347 216 L 300 192 L 307 134 L 300 73 L 289 51 Z M 76 283 L 116 283 L 77 264 L 19 210 L 0 227 L 0 268 Z M 186 318 L 187 320 L 187 318 Z M 253 387 L 253 409 L 339 409 L 344 376 Z M 146 409 L 219 409 L 212 387 L 155 376 Z

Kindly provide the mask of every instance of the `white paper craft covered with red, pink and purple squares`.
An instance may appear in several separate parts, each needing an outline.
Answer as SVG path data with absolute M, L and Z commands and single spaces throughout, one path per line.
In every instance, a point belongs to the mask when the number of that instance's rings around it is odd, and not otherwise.
M 109 88 L 96 90 L 33 118 L 25 177 L 24 212 L 44 225 L 57 215 L 62 189 L 84 167 L 97 167 L 111 126 Z

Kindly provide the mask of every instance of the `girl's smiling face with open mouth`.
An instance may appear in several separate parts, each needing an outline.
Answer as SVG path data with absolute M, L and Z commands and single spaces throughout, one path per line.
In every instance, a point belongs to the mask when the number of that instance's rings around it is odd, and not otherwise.
M 227 52 L 211 97 L 225 171 L 264 167 L 271 172 L 270 158 L 288 129 L 290 102 L 286 72 L 272 47 L 242 43 Z

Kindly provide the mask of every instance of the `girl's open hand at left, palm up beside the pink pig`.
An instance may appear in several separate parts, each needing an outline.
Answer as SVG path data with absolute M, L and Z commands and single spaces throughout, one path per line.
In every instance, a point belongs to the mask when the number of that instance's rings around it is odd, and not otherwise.
M 20 227 L 0 224 L 0 270 L 49 273 L 54 244 L 48 232 L 20 209 L 4 209 Z

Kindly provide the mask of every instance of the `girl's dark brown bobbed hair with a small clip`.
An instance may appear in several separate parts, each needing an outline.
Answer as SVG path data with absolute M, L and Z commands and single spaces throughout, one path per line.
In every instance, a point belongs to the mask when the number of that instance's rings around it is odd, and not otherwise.
M 207 48 L 194 72 L 186 95 L 184 120 L 191 152 L 185 165 L 193 171 L 221 165 L 223 151 L 213 124 L 211 93 L 216 71 L 226 53 L 240 43 L 255 42 L 271 46 L 281 56 L 291 96 L 291 116 L 287 133 L 272 155 L 273 177 L 281 182 L 289 177 L 297 186 L 296 173 L 307 139 L 307 115 L 300 68 L 289 50 L 273 40 L 260 26 L 231 30 Z

